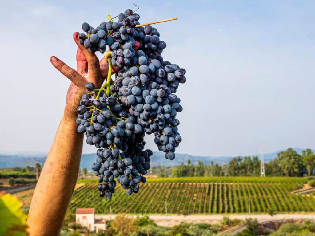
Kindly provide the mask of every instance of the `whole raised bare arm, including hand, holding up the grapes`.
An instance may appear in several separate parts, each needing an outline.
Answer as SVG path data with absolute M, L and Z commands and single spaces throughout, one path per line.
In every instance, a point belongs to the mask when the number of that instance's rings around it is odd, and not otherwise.
M 83 145 L 83 134 L 77 132 L 75 122 L 76 109 L 85 93 L 85 84 L 92 82 L 95 87 L 100 87 L 108 73 L 108 64 L 104 60 L 99 61 L 94 53 L 80 45 L 78 34 L 73 35 L 78 45 L 77 71 L 54 56 L 50 58 L 54 67 L 72 82 L 67 92 L 64 115 L 31 200 L 27 220 L 30 236 L 60 233 L 77 182 Z

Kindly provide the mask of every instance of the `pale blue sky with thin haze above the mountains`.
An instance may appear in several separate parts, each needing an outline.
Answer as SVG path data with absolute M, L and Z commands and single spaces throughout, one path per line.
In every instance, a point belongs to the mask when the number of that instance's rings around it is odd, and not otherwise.
M 261 142 L 266 152 L 315 148 L 314 1 L 135 3 L 140 23 L 178 17 L 155 25 L 164 60 L 187 71 L 176 152 L 250 155 Z M 76 68 L 73 32 L 127 8 L 132 1 L 0 2 L 0 153 L 48 153 L 70 84 L 49 57 Z M 156 151 L 153 138 L 146 147 Z

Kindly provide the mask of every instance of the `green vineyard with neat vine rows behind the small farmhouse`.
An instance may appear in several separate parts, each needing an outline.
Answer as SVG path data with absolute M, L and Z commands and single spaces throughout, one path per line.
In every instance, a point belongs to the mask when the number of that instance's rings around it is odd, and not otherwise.
M 127 196 L 117 188 L 112 199 L 98 199 L 95 180 L 83 180 L 70 202 L 70 210 L 95 207 L 98 214 L 264 213 L 315 211 L 315 198 L 291 194 L 304 178 L 290 177 L 192 177 L 148 179 L 138 194 Z M 112 207 L 111 207 L 112 206 Z

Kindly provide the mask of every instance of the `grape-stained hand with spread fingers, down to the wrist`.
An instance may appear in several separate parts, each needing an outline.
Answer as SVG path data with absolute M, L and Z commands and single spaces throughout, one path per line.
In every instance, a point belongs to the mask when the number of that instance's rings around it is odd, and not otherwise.
M 85 84 L 92 82 L 95 88 L 101 87 L 107 78 L 108 63 L 102 58 L 100 61 L 94 53 L 79 43 L 79 33 L 73 34 L 77 49 L 77 71 L 67 66 L 63 61 L 55 56 L 50 57 L 51 64 L 56 67 L 64 76 L 71 80 L 67 92 L 67 100 L 64 117 L 66 120 L 73 122 L 77 118 L 77 107 L 85 90 Z M 119 67 L 112 67 L 112 73 L 116 73 Z

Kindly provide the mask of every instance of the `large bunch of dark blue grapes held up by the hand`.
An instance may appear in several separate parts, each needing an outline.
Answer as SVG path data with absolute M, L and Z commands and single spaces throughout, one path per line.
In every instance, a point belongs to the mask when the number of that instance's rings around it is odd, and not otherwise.
M 163 60 L 166 43 L 151 25 L 136 27 L 139 19 L 127 9 L 117 22 L 102 22 L 96 29 L 83 23 L 87 35 L 79 35 L 90 52 L 108 49 L 109 64 L 121 68 L 114 82 L 109 74 L 100 89 L 87 83 L 77 108 L 77 130 L 98 148 L 92 169 L 99 176 L 100 196 L 108 199 L 117 183 L 130 195 L 146 182 L 152 151 L 144 149 L 145 134 L 154 133 L 154 142 L 169 160 L 181 142 L 176 114 L 183 108 L 175 93 L 186 82 L 186 70 Z

